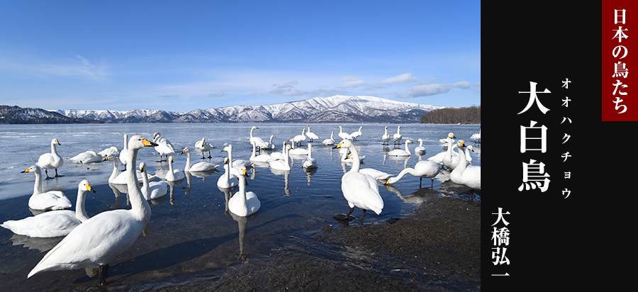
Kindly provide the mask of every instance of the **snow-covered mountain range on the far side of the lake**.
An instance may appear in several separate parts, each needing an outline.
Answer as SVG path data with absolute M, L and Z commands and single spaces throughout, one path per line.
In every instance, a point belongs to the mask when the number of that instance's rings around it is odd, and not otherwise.
M 419 123 L 420 116 L 437 108 L 444 107 L 374 96 L 331 96 L 268 106 L 196 109 L 188 113 L 148 109 L 55 112 L 69 118 L 99 120 L 103 123 Z

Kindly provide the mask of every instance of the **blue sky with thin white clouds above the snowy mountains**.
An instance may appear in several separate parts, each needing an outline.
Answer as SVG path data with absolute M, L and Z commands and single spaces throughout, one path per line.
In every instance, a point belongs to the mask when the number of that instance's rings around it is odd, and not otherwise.
M 0 1 L 0 104 L 481 104 L 480 1 Z

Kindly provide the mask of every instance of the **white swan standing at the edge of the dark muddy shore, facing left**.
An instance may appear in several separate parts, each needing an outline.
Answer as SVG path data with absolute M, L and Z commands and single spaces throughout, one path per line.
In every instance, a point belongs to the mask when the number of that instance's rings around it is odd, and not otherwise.
M 360 221 L 363 221 L 366 210 L 373 210 L 374 213 L 379 215 L 384 208 L 384 200 L 379 195 L 379 185 L 376 183 L 376 179 L 369 176 L 369 174 L 359 172 L 359 153 L 352 141 L 343 140 L 335 148 L 341 147 L 348 148 L 352 152 L 352 158 L 354 159 L 350 171 L 341 178 L 341 191 L 350 207 L 350 211 L 343 219 L 349 219 L 355 206 L 363 209 L 363 214 L 359 218 Z

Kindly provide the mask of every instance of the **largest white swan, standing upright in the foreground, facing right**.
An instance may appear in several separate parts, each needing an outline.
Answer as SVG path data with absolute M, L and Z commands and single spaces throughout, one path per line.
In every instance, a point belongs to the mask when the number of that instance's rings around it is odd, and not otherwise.
M 131 163 L 127 185 L 131 209 L 102 212 L 78 225 L 45 254 L 27 278 L 41 271 L 98 268 L 99 286 L 106 284 L 108 262 L 133 245 L 150 219 L 150 207 L 142 196 L 133 170 L 138 150 L 155 145 L 139 135 L 128 142 Z

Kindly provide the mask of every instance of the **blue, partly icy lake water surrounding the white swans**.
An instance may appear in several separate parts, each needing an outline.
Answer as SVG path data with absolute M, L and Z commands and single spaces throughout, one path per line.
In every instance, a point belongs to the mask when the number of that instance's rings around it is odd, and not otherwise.
M 227 152 L 221 152 L 228 144 L 233 145 L 233 159 L 249 159 L 252 145 L 249 144 L 250 128 L 257 125 L 254 136 L 264 141 L 275 135 L 276 145 L 273 151 L 281 152 L 284 141 L 300 135 L 306 125 L 298 123 L 179 123 L 179 124 L 99 124 L 99 125 L 0 125 L 0 222 L 18 220 L 33 215 L 28 208 L 28 199 L 33 193 L 35 176 L 21 173 L 38 161 L 38 157 L 50 152 L 53 138 L 60 141 L 58 153 L 65 159 L 64 166 L 58 169 L 62 177 L 43 181 L 45 191 L 63 190 L 75 205 L 77 184 L 88 179 L 96 193 L 87 193 L 86 212 L 96 215 L 113 208 L 130 208 L 125 192 L 118 192 L 108 184 L 113 164 L 109 161 L 91 164 L 74 164 L 68 159 L 75 155 L 93 150 L 99 152 L 115 146 L 121 150 L 123 135 L 142 135 L 152 140 L 153 133 L 159 132 L 175 146 L 174 168 L 184 169 L 186 155 L 179 155 L 184 147 L 191 150 L 191 163 L 202 161 L 201 153 L 194 144 L 202 137 L 213 145 L 213 158 L 205 159 L 223 164 Z M 364 155 L 362 168 L 374 168 L 393 176 L 405 167 L 413 167 L 420 159 L 444 151 L 439 140 L 452 132 L 457 140 L 463 139 L 474 146 L 471 154 L 473 165 L 481 165 L 480 144 L 474 144 L 469 137 L 478 133 L 480 125 L 401 125 L 401 135 L 410 144 L 413 155 L 410 157 L 390 157 L 387 152 L 394 149 L 381 145 L 384 134 L 382 124 L 314 124 L 310 130 L 320 137 L 313 142 L 312 155 L 318 162 L 318 169 L 306 172 L 301 164 L 306 157 L 291 155 L 290 172 L 274 171 L 267 164 L 259 164 L 248 171 L 250 178 L 247 191 L 257 194 L 262 207 L 257 215 L 250 218 L 237 218 L 228 215 L 226 202 L 235 193 L 223 191 L 217 187 L 217 180 L 223 175 L 213 172 L 205 177 L 186 176 L 184 181 L 172 184 L 167 196 L 151 202 L 152 215 L 147 235 L 140 236 L 135 244 L 111 262 L 108 282 L 113 285 L 143 285 L 159 283 L 169 279 L 189 279 L 214 274 L 248 259 L 259 260 L 273 249 L 279 249 L 290 242 L 293 232 L 300 230 L 320 230 L 340 224 L 332 218 L 337 213 L 347 213 L 347 201 L 342 196 L 341 176 L 349 170 L 350 164 L 340 161 L 340 150 L 333 146 L 321 145 L 335 131 L 335 141 L 340 138 L 338 125 L 344 132 L 352 133 L 363 126 L 363 135 L 354 144 L 359 155 Z M 396 133 L 398 125 L 388 124 L 388 134 Z M 417 140 L 423 140 L 426 152 L 417 155 L 413 152 L 418 146 Z M 308 145 L 308 140 L 302 147 Z M 398 147 L 398 146 L 396 146 Z M 208 153 L 206 153 L 206 157 Z M 163 177 L 168 169 L 167 162 L 157 162 L 159 155 L 152 147 L 138 152 L 138 166 L 145 162 L 150 173 Z M 122 167 L 121 167 L 122 168 Z M 49 172 L 55 174 L 55 172 Z M 44 174 L 43 174 L 44 175 Z M 447 191 L 455 185 L 449 181 L 449 174 L 442 172 L 435 179 L 432 188 L 430 179 L 422 181 L 423 189 L 432 189 L 436 196 L 455 196 Z M 419 179 L 404 176 L 391 186 L 379 184 L 379 193 L 384 199 L 381 215 L 367 212 L 364 224 L 376 223 L 408 214 L 415 204 L 427 201 L 427 197 L 413 195 L 420 191 Z M 432 193 L 432 191 L 430 191 Z M 461 196 L 465 196 L 461 194 Z M 480 200 L 480 196 L 474 196 Z M 72 210 L 75 206 L 72 207 Z M 359 218 L 362 210 L 355 208 L 352 215 Z M 354 221 L 350 224 L 361 224 Z M 46 271 L 27 279 L 48 249 L 62 240 L 38 239 L 13 235 L 13 232 L 0 228 L 0 280 L 4 291 L 84 291 L 96 286 L 96 277 L 89 278 L 84 270 Z M 295 240 L 299 240 L 296 238 Z M 6 290 L 5 290 L 6 289 Z

